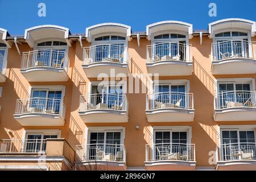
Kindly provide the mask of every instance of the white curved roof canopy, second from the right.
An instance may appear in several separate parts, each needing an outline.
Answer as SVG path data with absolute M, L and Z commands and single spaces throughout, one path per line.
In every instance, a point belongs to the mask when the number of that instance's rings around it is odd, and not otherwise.
M 146 35 L 148 40 L 150 40 L 150 37 L 152 35 L 158 32 L 163 32 L 167 30 L 187 32 L 189 39 L 191 39 L 193 34 L 193 25 L 189 23 L 173 21 L 173 20 L 156 22 L 146 26 Z

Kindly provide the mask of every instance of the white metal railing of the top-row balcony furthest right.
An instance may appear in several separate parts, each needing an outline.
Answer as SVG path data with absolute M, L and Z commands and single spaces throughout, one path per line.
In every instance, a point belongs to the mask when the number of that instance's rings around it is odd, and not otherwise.
M 226 40 L 212 43 L 213 61 L 235 57 L 256 59 L 256 42 L 248 42 L 246 40 Z

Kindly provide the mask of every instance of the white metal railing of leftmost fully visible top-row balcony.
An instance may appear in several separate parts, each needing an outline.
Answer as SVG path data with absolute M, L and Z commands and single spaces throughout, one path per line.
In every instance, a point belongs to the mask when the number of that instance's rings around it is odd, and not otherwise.
M 23 52 L 21 69 L 32 67 L 64 68 L 68 72 L 68 55 L 65 51 L 55 51 L 52 49 Z

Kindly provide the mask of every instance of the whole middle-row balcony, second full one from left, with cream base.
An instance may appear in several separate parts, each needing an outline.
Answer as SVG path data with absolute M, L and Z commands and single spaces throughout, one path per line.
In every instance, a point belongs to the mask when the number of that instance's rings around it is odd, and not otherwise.
M 125 123 L 128 101 L 125 94 L 80 96 L 79 114 L 85 123 Z

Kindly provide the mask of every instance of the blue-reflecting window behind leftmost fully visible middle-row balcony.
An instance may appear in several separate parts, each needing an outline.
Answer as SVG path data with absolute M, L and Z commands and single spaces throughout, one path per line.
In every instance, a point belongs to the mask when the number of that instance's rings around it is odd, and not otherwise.
M 59 114 L 61 107 L 61 91 L 32 89 L 32 98 L 30 99 L 30 107 L 35 112 L 46 112 Z

